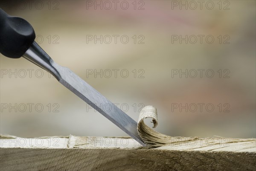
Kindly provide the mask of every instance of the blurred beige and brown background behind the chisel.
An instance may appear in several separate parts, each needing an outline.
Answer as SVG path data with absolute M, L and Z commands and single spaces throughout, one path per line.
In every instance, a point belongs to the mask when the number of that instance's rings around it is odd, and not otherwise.
M 256 1 L 1 1 L 35 41 L 134 120 L 170 136 L 256 137 Z M 0 133 L 127 136 L 24 58 L 0 55 Z

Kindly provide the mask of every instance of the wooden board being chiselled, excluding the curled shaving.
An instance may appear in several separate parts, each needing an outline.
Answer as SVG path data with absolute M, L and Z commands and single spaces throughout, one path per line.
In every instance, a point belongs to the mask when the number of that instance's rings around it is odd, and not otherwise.
M 157 148 L 128 137 L 0 136 L 1 171 L 255 171 L 256 139 L 172 137 Z

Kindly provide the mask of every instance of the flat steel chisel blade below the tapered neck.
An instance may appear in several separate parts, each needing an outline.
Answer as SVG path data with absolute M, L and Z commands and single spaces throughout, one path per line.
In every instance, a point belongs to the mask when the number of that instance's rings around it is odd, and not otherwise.
M 61 76 L 61 79 L 59 80 L 61 84 L 79 96 L 82 100 L 84 100 L 87 104 L 89 104 L 103 116 L 108 118 L 111 122 L 125 131 L 125 133 L 134 138 L 141 145 L 145 146 L 145 143 L 137 132 L 136 121 L 134 121 L 130 116 L 120 110 L 111 101 L 106 99 L 102 94 L 91 87 L 70 69 L 61 67 L 55 62 L 52 62 L 52 66 L 58 70 Z M 103 107 L 105 106 L 104 104 L 108 104 L 110 109 L 105 109 Z

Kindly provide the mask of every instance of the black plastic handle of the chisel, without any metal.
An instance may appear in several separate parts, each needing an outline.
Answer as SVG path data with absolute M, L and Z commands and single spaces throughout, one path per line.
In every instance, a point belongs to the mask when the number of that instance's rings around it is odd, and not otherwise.
M 33 27 L 20 17 L 0 8 L 0 52 L 9 58 L 20 58 L 35 40 Z

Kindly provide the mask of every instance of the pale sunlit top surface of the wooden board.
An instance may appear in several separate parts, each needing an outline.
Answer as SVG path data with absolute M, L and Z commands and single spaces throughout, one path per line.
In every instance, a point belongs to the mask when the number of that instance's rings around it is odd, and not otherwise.
M 0 135 L 0 148 L 56 148 L 56 149 L 146 149 L 131 137 L 91 137 L 91 136 L 50 136 L 22 138 Z M 172 137 L 172 143 L 154 150 L 172 151 L 227 151 L 256 153 L 256 139 Z

